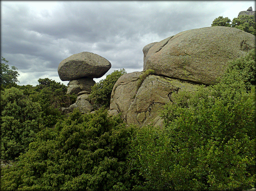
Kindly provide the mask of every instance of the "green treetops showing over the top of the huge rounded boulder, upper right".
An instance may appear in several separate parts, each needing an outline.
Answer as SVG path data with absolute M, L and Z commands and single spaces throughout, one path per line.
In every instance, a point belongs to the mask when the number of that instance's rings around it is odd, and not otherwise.
M 252 15 L 241 15 L 231 20 L 228 17 L 219 16 L 215 18 L 211 26 L 226 26 L 233 27 L 248 32 L 256 36 L 256 22 Z

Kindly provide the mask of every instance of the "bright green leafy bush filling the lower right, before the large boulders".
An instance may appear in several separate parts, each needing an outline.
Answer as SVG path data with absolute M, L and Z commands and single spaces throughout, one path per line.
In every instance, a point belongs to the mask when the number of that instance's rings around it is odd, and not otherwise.
M 165 127 L 138 131 L 129 153 L 136 187 L 242 190 L 254 186 L 255 86 L 248 91 L 243 71 L 255 69 L 252 63 L 242 64 L 248 58 L 231 63 L 219 84 L 202 86 L 194 94 L 174 94 L 174 103 L 162 112 Z M 234 67 L 236 62 L 242 67 Z

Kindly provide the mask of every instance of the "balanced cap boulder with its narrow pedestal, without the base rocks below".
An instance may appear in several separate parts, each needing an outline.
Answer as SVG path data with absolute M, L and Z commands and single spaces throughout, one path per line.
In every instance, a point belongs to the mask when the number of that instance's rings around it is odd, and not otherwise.
M 92 52 L 80 52 L 62 60 L 58 66 L 60 80 L 70 81 L 67 94 L 91 92 L 93 78 L 100 78 L 111 68 L 111 63 Z

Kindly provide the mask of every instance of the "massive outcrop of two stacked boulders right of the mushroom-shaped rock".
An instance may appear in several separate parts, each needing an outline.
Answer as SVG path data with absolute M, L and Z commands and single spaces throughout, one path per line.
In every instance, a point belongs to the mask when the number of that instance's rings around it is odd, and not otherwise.
M 159 113 L 172 95 L 215 84 L 228 62 L 255 47 L 255 36 L 214 26 L 180 32 L 143 48 L 144 71 L 121 76 L 111 94 L 109 113 L 121 113 L 136 126 L 162 125 Z M 146 70 L 154 74 L 142 78 Z

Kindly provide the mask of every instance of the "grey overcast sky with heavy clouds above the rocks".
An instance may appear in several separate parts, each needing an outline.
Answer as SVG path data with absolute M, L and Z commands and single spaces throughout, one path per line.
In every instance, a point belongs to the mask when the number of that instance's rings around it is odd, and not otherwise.
M 1 1 L 1 56 L 16 66 L 18 85 L 62 82 L 58 65 L 93 52 L 120 68 L 143 70 L 144 46 L 179 32 L 231 20 L 254 1 Z M 99 80 L 106 78 L 106 75 Z

